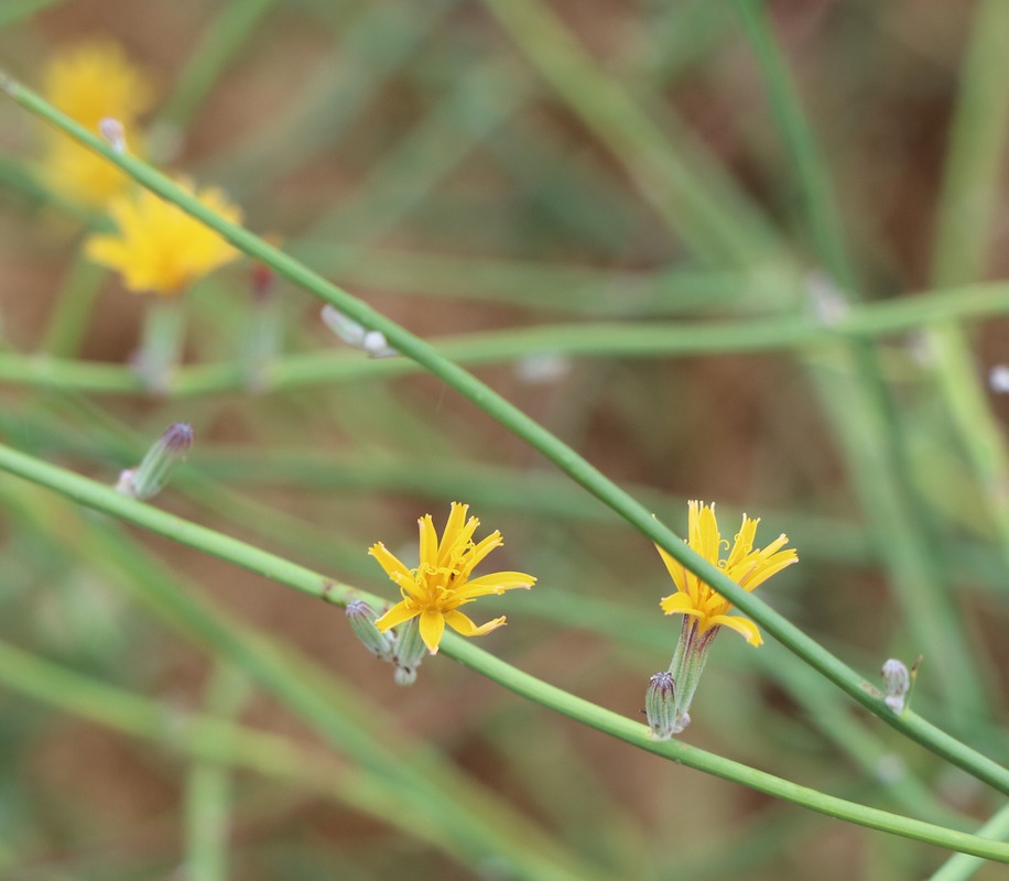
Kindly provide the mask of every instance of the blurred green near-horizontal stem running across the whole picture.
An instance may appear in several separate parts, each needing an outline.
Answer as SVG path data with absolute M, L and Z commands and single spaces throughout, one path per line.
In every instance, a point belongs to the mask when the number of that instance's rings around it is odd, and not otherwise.
M 1007 312 L 1009 284 L 992 282 L 855 305 L 844 319 L 831 326 L 790 315 L 690 324 L 652 320 L 539 325 L 459 334 L 435 339 L 433 345 L 444 357 L 469 365 L 508 361 L 543 352 L 584 358 L 651 358 L 809 350 L 811 358 L 840 370 L 842 360 L 829 352 L 832 341 L 905 334 L 947 317 L 980 318 Z M 894 370 L 905 360 L 896 352 Z M 261 376 L 267 391 L 285 391 L 321 383 L 388 378 L 419 369 L 419 362 L 404 359 L 373 360 L 327 350 L 279 357 L 263 366 Z M 144 389 L 135 373 L 120 365 L 24 356 L 13 351 L 0 352 L 0 380 L 93 394 L 129 394 Z M 248 369 L 241 360 L 182 367 L 175 373 L 167 396 L 188 398 L 240 390 L 247 388 L 248 382 Z

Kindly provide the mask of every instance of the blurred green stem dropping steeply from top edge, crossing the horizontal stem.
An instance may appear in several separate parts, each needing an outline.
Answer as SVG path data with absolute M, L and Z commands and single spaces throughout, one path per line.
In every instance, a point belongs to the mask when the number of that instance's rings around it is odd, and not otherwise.
M 760 64 L 771 111 L 788 150 L 802 193 L 804 221 L 813 231 L 815 250 L 839 285 L 838 296 L 858 298 L 859 291 L 847 255 L 839 214 L 826 164 L 820 155 L 788 66 L 762 2 L 736 0 L 744 26 Z M 845 458 L 869 516 L 890 537 L 885 543 L 893 588 L 900 598 L 915 642 L 936 661 L 939 685 L 947 709 L 965 730 L 972 718 L 987 714 L 978 664 L 930 558 L 914 504 L 915 485 L 905 463 L 889 389 L 879 355 L 864 341 L 853 341 L 850 369 L 834 376 L 814 371 L 821 400 L 842 438 Z M 844 376 L 842 376 L 844 374 Z M 860 418 L 855 418 L 854 413 Z

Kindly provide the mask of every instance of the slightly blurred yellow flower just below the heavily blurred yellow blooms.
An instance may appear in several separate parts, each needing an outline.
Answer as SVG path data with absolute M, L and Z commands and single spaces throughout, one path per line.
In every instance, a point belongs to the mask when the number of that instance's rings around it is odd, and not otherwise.
M 177 183 L 207 208 L 232 224 L 241 222 L 241 210 L 220 189 L 197 192 L 189 181 Z M 213 229 L 147 189 L 115 197 L 109 214 L 119 227 L 118 235 L 93 236 L 85 243 L 85 253 L 118 270 L 126 286 L 138 293 L 174 296 L 239 255 Z

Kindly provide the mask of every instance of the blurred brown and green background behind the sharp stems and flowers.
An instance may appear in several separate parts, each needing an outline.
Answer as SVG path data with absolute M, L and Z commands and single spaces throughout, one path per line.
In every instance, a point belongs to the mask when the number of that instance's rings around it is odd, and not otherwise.
M 42 89 L 82 45 L 120 52 L 147 83 L 152 162 L 220 186 L 250 230 L 470 366 L 673 530 L 704 499 L 730 535 L 742 511 L 761 545 L 786 532 L 801 565 L 764 599 L 866 675 L 924 654 L 915 709 L 1006 760 L 1003 485 L 950 412 L 967 383 L 1000 447 L 1009 409 L 983 383 L 1005 320 L 946 328 L 972 359 L 948 382 L 929 330 L 758 339 L 1005 275 L 998 162 L 985 222 L 942 237 L 991 6 L 7 0 L 0 57 Z M 992 78 L 976 94 L 1005 90 Z M 794 106 L 815 151 L 782 134 Z M 106 221 L 54 184 L 52 137 L 0 104 L 6 443 L 115 483 L 189 422 L 158 505 L 390 599 L 367 547 L 408 558 L 417 516 L 466 501 L 505 535 L 489 570 L 539 578 L 482 601 L 509 627 L 480 646 L 639 717 L 680 629 L 649 542 L 249 261 L 186 294 L 180 384 L 144 393 L 128 363 L 147 297 L 82 255 Z M 976 265 L 954 265 L 957 236 Z M 831 881 L 947 856 L 640 753 L 444 656 L 400 688 L 335 607 L 14 478 L 0 503 L 0 637 L 50 664 L 4 662 L 2 878 Z M 280 740 L 208 763 L 192 713 Z M 996 807 L 770 640 L 724 634 L 692 716 L 686 742 L 832 794 L 963 829 Z

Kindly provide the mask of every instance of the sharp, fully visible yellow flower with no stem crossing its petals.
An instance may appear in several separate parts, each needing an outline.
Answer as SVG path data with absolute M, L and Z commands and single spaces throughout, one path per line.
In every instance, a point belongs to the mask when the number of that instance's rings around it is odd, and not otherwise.
M 403 597 L 375 622 L 379 630 L 384 632 L 420 616 L 421 639 L 427 651 L 435 654 L 445 624 L 464 637 L 482 637 L 505 623 L 503 618 L 495 618 L 477 627 L 458 610 L 459 606 L 488 594 L 503 594 L 517 587 L 530 588 L 535 584 L 535 578 L 522 572 L 499 572 L 470 579 L 477 564 L 503 542 L 501 533 L 496 531 L 474 544 L 473 534 L 480 521 L 475 516 L 466 520 L 468 511 L 468 504 L 452 503 L 441 542 L 431 514 L 417 521 L 421 551 L 420 565 L 415 569 L 408 568 L 381 542 L 369 548 L 368 553 L 399 586 Z

